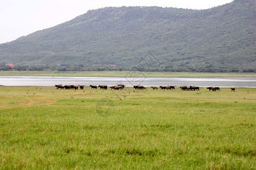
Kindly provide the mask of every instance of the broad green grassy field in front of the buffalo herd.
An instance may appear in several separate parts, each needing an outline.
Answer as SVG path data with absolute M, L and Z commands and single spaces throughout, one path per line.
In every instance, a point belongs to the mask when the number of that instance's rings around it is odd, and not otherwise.
M 0 169 L 255 169 L 255 99 L 0 86 Z

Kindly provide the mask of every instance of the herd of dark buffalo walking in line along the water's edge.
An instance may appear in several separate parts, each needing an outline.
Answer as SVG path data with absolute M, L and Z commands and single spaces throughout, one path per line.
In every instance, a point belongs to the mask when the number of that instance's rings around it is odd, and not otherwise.
M 62 84 L 56 84 L 55 87 L 56 87 L 56 89 L 78 90 L 80 88 L 82 90 L 82 89 L 84 89 L 85 86 L 84 85 L 65 85 L 65 86 L 63 86 Z M 97 89 L 99 87 L 100 89 L 108 90 L 108 86 L 106 86 L 106 85 L 99 85 L 99 86 L 90 85 L 89 87 L 94 88 L 94 89 Z M 159 87 L 151 86 L 152 90 L 158 90 L 158 88 L 160 90 L 175 90 L 175 87 L 176 86 L 159 86 Z M 116 86 L 110 86 L 109 88 L 111 88 L 112 90 L 122 90 L 123 88 L 125 88 L 125 85 L 118 84 Z M 133 88 L 135 90 L 147 90 L 147 87 L 141 86 L 141 85 L 133 86 Z M 200 87 L 198 87 L 198 86 L 180 86 L 179 88 L 180 88 L 180 90 L 187 90 L 187 91 L 199 91 L 200 90 Z M 220 87 L 207 87 L 207 89 L 209 89 L 209 91 L 220 91 Z M 231 91 L 236 90 L 236 88 L 234 88 L 234 87 L 231 87 L 230 89 L 231 89 Z

